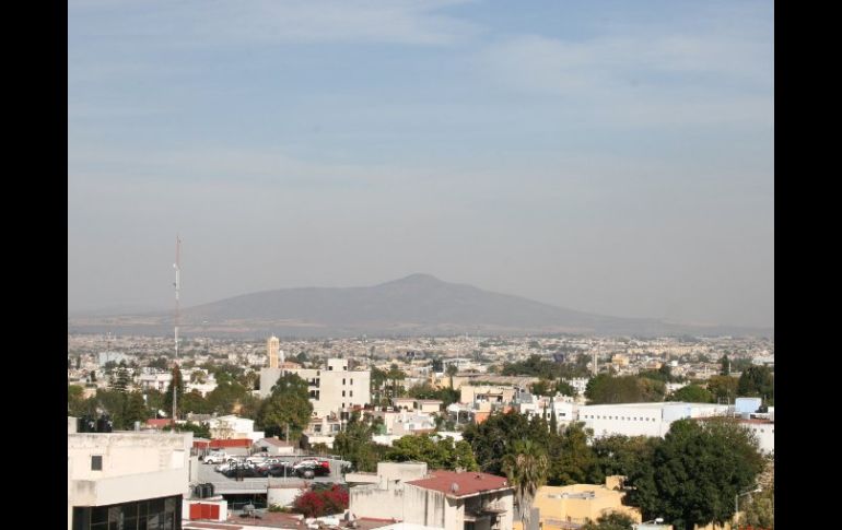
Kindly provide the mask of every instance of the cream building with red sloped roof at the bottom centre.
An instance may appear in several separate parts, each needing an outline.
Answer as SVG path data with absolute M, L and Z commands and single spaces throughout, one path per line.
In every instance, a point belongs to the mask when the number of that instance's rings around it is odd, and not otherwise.
M 351 488 L 358 518 L 394 519 L 445 530 L 511 530 L 514 492 L 504 476 L 478 472 L 426 471 L 424 462 L 381 462 L 377 475 Z

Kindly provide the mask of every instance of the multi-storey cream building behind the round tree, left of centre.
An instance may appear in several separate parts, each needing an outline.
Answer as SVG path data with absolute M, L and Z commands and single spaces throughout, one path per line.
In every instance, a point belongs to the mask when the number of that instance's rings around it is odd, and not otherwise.
M 295 374 L 307 381 L 313 415 L 326 417 L 331 413 L 344 413 L 371 401 L 371 372 L 349 370 L 348 360 L 329 358 L 324 368 L 262 368 L 260 369 L 260 397 L 267 398 L 283 373 Z

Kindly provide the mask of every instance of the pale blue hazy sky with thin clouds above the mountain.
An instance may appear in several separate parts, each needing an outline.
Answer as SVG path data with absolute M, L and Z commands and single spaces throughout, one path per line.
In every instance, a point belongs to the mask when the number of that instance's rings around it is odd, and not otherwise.
M 771 1 L 68 9 L 68 308 L 426 272 L 774 325 Z

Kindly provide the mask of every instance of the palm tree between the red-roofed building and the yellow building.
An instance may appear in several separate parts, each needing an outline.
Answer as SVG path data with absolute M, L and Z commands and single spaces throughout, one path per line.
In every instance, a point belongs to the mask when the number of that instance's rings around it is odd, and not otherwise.
M 547 483 L 549 459 L 543 449 L 533 440 L 518 440 L 512 446 L 512 451 L 503 457 L 503 470 L 515 488 L 515 502 L 521 511 L 523 528 L 526 530 L 535 494 Z

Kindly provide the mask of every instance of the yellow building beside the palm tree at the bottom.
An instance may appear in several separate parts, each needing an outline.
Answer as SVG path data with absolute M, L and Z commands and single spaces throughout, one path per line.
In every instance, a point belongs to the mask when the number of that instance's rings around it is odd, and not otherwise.
M 584 525 L 587 519 L 596 521 L 611 511 L 628 515 L 633 521 L 640 522 L 640 509 L 622 504 L 625 492 L 620 490 L 620 479 L 615 475 L 607 476 L 605 484 L 539 487 L 533 507 L 540 510 L 541 528 L 572 528 L 571 525 Z

